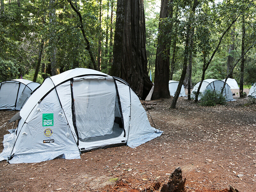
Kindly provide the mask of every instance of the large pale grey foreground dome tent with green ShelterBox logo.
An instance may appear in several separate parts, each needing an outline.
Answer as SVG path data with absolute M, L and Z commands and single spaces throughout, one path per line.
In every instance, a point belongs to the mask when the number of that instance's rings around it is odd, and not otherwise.
M 135 148 L 162 134 L 149 124 L 129 84 L 85 68 L 47 77 L 19 115 L 0 154 L 9 163 L 78 159 L 81 152 L 122 144 Z

